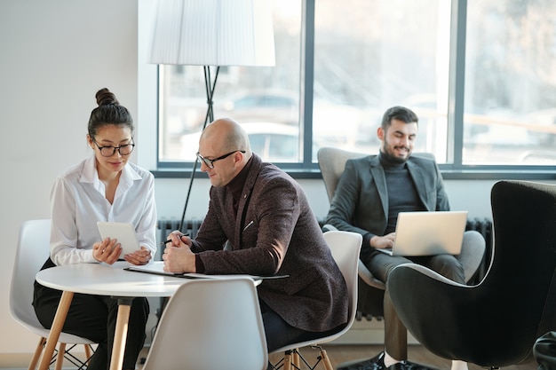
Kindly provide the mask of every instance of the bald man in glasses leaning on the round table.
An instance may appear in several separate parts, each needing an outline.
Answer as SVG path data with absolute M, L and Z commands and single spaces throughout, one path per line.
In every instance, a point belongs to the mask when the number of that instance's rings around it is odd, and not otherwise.
M 251 153 L 247 133 L 230 119 L 203 130 L 197 157 L 212 185 L 209 210 L 195 240 L 171 233 L 164 269 L 290 275 L 258 286 L 269 352 L 341 330 L 346 282 L 301 186 Z

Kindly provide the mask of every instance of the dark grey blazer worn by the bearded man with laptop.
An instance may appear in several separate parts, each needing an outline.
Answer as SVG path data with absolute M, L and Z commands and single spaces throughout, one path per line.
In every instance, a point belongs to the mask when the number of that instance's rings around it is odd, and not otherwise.
M 429 211 L 449 210 L 441 172 L 432 159 L 410 156 L 409 175 Z M 326 224 L 365 236 L 383 236 L 387 226 L 388 189 L 377 155 L 346 161 L 346 169 L 330 204 Z

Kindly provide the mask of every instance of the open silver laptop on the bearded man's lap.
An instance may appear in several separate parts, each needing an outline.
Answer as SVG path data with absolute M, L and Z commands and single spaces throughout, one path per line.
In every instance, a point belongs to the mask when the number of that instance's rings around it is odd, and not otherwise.
M 459 255 L 467 211 L 400 212 L 390 256 Z

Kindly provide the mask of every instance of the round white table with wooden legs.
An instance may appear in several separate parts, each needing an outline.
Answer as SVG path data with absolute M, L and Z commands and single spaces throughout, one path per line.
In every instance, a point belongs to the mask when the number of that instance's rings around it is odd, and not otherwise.
M 171 296 L 180 285 L 189 280 L 123 270 L 130 265 L 126 262 L 116 262 L 113 265 L 68 264 L 52 267 L 36 274 L 36 281 L 40 284 L 63 291 L 39 370 L 48 369 L 74 293 L 110 295 L 118 300 L 110 370 L 121 370 L 132 299 L 138 296 Z

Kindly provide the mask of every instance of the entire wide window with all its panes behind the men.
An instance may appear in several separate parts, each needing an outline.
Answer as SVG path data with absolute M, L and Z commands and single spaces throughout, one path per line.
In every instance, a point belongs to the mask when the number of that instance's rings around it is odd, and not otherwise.
M 292 172 L 322 146 L 378 152 L 389 106 L 419 116 L 416 151 L 445 172 L 556 164 L 551 0 L 273 0 L 275 67 L 221 67 L 214 116 Z M 465 44 L 462 43 L 465 40 Z M 158 168 L 195 161 L 201 67 L 159 67 Z

